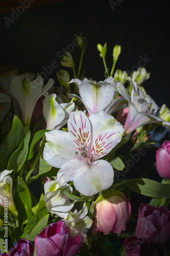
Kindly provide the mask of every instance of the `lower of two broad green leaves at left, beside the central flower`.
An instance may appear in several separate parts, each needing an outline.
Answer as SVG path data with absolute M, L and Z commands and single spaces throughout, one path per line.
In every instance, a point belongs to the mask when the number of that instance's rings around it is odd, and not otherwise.
M 8 161 L 7 169 L 14 169 L 13 174 L 17 173 L 18 170 L 22 167 L 23 163 L 25 163 L 29 150 L 29 141 L 30 141 L 30 131 L 23 137 L 19 147 L 12 154 Z

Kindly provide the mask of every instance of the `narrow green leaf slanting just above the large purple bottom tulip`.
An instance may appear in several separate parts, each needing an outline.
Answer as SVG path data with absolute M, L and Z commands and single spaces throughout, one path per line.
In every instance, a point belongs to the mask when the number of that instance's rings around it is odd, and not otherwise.
M 49 214 L 45 215 L 39 222 L 38 224 L 33 228 L 30 234 L 27 234 L 24 236 L 26 240 L 34 241 L 34 238 L 38 236 L 38 234 L 41 232 L 41 230 L 47 226 L 48 224 L 48 218 Z

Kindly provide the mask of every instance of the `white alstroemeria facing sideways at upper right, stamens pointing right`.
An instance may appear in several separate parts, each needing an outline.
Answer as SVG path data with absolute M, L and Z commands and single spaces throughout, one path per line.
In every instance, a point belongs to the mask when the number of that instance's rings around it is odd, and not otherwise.
M 155 101 L 149 95 L 145 95 L 130 77 L 129 79 L 133 84 L 131 96 L 122 83 L 117 82 L 116 85 L 117 91 L 128 100 L 129 104 L 129 112 L 124 125 L 125 134 L 129 134 L 137 127 L 148 123 L 164 123 L 170 126 L 169 122 L 155 116 L 158 109 Z

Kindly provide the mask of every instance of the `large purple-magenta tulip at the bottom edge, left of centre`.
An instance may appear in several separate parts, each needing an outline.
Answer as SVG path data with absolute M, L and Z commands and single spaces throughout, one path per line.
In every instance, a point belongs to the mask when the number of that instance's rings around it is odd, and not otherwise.
M 64 221 L 45 227 L 35 238 L 37 256 L 77 256 L 83 244 L 81 235 L 72 238 Z

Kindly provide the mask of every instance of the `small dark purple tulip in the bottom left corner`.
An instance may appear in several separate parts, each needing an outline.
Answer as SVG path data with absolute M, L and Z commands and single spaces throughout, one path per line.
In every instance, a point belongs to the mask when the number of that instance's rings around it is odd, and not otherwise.
M 26 239 L 20 239 L 18 243 L 10 250 L 9 256 L 33 256 L 34 246 Z

